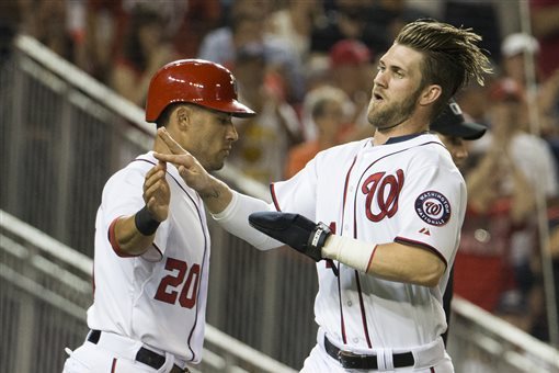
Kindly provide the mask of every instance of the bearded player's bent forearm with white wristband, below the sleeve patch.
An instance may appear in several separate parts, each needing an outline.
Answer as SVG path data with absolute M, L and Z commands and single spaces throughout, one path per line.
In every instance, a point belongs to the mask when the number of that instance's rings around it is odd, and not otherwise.
M 438 284 L 445 270 L 443 261 L 429 250 L 398 242 L 375 245 L 335 235 L 328 238 L 322 256 L 385 280 L 430 287 Z

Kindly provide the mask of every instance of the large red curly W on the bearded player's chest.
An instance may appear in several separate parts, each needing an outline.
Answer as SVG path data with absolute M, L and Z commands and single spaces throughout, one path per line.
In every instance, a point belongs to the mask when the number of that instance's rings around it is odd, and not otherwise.
M 361 191 L 367 195 L 365 199 L 367 218 L 377 223 L 385 217 L 392 217 L 398 211 L 398 197 L 402 187 L 403 171 L 401 169 L 396 171 L 396 176 L 386 174 L 386 172 L 369 176 L 361 188 Z M 375 205 L 373 205 L 374 201 L 376 201 Z

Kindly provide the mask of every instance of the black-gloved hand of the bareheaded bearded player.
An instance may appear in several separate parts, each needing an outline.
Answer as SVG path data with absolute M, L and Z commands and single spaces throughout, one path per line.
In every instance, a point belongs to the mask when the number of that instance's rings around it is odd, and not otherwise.
M 322 247 L 331 235 L 323 223 L 313 223 L 303 215 L 259 212 L 249 215 L 249 224 L 267 236 L 289 245 L 315 261 L 322 259 Z

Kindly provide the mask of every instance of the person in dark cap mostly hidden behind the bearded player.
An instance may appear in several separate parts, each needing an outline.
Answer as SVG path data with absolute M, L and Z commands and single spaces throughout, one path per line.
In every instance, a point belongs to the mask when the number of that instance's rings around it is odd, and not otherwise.
M 467 122 L 458 103 L 454 99 L 450 99 L 441 115 L 431 123 L 430 129 L 438 135 L 443 145 L 448 149 L 448 152 L 450 152 L 454 163 L 460 168 L 468 158 L 468 150 L 464 142 L 480 138 L 486 133 L 487 127 L 479 123 Z M 450 269 L 448 283 L 443 294 L 443 308 L 445 310 L 447 324 L 447 330 L 442 335 L 445 344 L 448 338 L 448 328 L 450 327 L 450 303 L 454 293 L 453 280 L 454 268 Z

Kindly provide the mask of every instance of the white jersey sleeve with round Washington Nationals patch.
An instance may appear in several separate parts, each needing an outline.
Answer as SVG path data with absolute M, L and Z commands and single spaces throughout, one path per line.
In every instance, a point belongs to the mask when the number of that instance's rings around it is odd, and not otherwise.
M 399 204 L 404 218 L 395 241 L 424 247 L 450 262 L 466 211 L 458 170 L 436 165 L 418 169 L 407 178 Z

